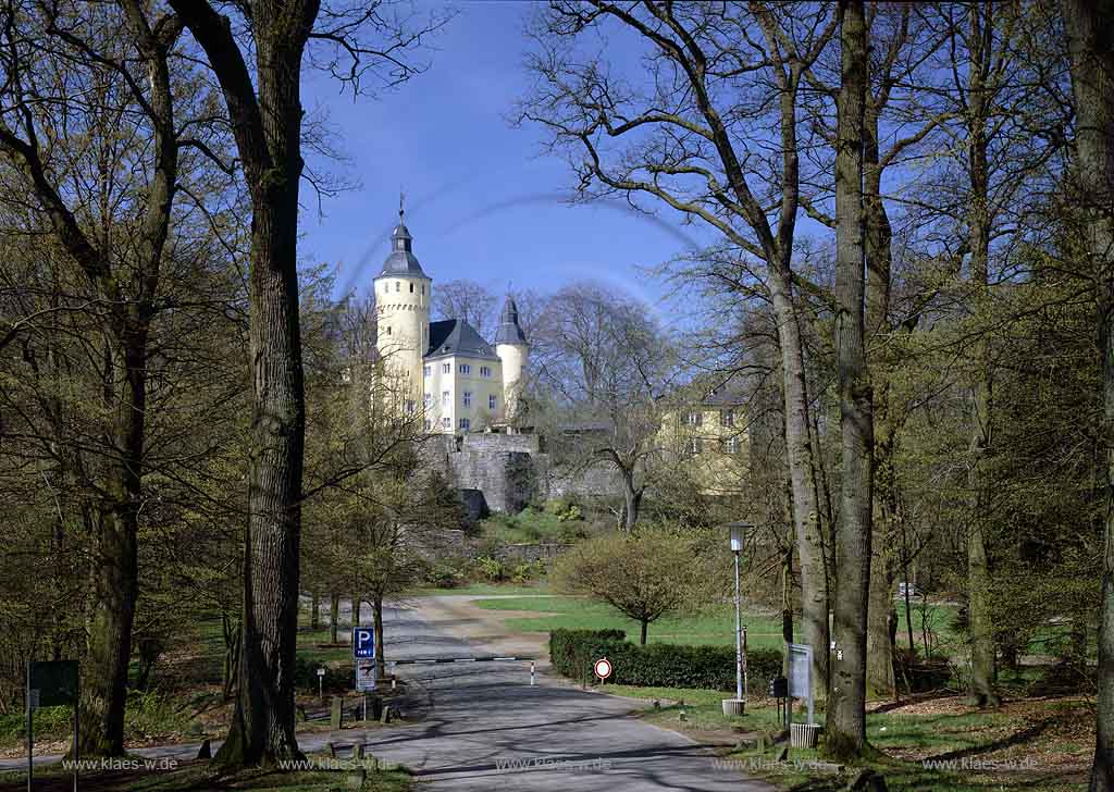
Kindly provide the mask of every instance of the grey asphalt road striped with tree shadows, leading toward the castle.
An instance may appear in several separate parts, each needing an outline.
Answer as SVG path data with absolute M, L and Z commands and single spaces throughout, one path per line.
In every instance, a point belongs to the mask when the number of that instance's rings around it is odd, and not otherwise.
M 384 613 L 387 657 L 490 654 L 483 645 L 455 637 L 460 627 L 451 617 L 423 618 L 414 603 L 391 606 Z M 773 789 L 716 766 L 710 751 L 685 736 L 631 717 L 637 702 L 540 677 L 530 686 L 528 663 L 402 665 L 398 673 L 422 696 L 420 722 L 367 734 L 303 734 L 302 750 L 324 750 L 330 741 L 362 742 L 379 759 L 413 770 L 421 788 L 436 792 Z M 193 759 L 196 752 L 196 745 L 174 745 L 134 753 Z M 11 765 L 19 762 L 0 762 Z

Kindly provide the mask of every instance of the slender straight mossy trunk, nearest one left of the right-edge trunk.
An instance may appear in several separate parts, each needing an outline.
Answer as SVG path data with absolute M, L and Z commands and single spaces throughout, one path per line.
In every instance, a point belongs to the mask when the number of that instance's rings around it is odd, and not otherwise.
M 970 120 L 967 136 L 970 172 L 970 278 L 976 302 L 988 299 L 990 257 L 989 163 L 981 63 L 984 31 L 989 26 L 989 9 L 970 11 L 973 42 L 970 71 Z M 970 635 L 970 698 L 979 706 L 997 706 L 995 693 L 994 620 L 990 615 L 990 566 L 987 556 L 987 528 L 990 517 L 993 481 L 988 470 L 991 453 L 993 375 L 988 339 L 983 335 L 974 345 L 975 377 L 971 382 L 971 461 L 968 489 L 971 515 L 967 534 L 967 613 Z

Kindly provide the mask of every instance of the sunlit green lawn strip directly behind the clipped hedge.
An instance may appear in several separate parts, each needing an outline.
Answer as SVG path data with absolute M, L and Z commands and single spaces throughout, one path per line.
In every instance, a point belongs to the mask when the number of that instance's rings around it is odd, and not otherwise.
M 530 610 L 538 616 L 509 618 L 511 630 L 548 633 L 561 627 L 573 629 L 625 629 L 637 641 L 638 623 L 618 615 L 606 605 L 579 597 L 535 597 L 477 599 L 476 605 L 490 610 Z M 781 648 L 781 617 L 744 614 L 747 646 Z M 663 616 L 649 625 L 648 641 L 661 644 L 733 645 L 735 612 L 730 605 L 698 615 Z

